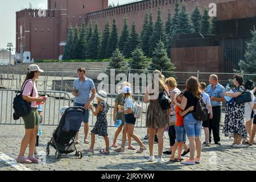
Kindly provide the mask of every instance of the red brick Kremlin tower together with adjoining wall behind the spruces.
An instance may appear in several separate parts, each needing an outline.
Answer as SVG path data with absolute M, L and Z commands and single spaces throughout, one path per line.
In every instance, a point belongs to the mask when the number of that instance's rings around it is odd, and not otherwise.
M 228 2 L 232 0 L 180 0 L 191 12 L 196 5 L 202 9 L 209 3 Z M 117 19 L 118 29 L 121 32 L 123 18 L 127 17 L 129 26 L 134 21 L 138 32 L 141 31 L 144 14 L 152 11 L 154 20 L 156 10 L 162 9 L 164 22 L 167 19 L 168 9 L 174 13 L 174 0 L 147 0 L 108 9 L 108 0 L 48 0 L 46 16 L 40 18 L 39 10 L 25 9 L 16 12 L 16 50 L 19 53 L 20 25 L 23 27 L 23 51 L 30 51 L 35 60 L 59 59 L 63 55 L 63 43 L 67 38 L 69 24 L 81 24 L 82 18 L 88 22 L 98 22 L 101 31 L 104 30 L 105 20 L 110 25 L 113 18 Z

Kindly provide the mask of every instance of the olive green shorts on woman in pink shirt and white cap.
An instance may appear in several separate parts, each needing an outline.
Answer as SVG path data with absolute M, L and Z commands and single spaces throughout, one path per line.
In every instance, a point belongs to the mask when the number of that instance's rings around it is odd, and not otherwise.
M 36 125 L 39 125 L 38 108 L 31 108 L 30 113 L 23 115 L 22 117 L 25 123 L 25 129 L 34 129 Z

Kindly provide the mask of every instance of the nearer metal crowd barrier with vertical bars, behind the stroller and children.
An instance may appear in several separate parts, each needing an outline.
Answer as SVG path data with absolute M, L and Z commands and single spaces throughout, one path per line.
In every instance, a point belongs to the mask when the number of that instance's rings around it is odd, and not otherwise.
M 19 90 L 17 89 L 0 89 L 0 125 L 23 125 L 23 119 L 20 118 L 18 120 L 13 119 L 13 99 L 16 96 L 16 92 Z M 62 106 L 72 106 L 72 99 L 66 92 L 56 92 L 56 91 L 38 91 L 39 95 L 47 95 L 48 99 L 46 101 L 46 104 L 42 105 L 43 109 L 43 123 L 42 125 L 49 125 L 49 126 L 55 126 L 59 125 L 60 121 L 60 113 L 59 110 Z M 114 100 L 117 94 L 108 94 L 107 102 L 109 104 L 109 111 L 107 114 L 107 120 L 108 120 L 108 126 L 113 127 L 114 121 L 113 121 L 113 112 L 114 112 Z M 143 95 L 134 95 L 133 97 L 139 98 L 140 101 L 143 99 Z M 96 100 L 94 100 L 92 103 L 96 103 Z M 144 104 L 141 102 L 142 105 L 142 115 L 141 118 L 137 119 L 135 127 L 145 127 L 146 126 L 146 110 L 148 104 Z M 93 116 L 93 114 L 90 112 L 89 117 L 89 125 L 94 126 L 95 122 L 97 121 L 97 118 Z

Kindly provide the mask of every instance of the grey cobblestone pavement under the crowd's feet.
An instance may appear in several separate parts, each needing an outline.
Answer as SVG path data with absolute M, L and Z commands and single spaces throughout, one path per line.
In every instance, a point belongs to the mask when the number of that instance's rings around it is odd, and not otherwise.
M 40 137 L 38 151 L 45 151 L 47 142 L 51 139 L 56 126 L 42 126 L 43 135 Z M 83 130 L 83 128 L 81 128 Z M 90 127 L 92 129 L 92 127 Z M 114 136 L 114 127 L 109 127 L 109 139 L 112 144 Z M 80 140 L 82 141 L 82 133 Z M 146 128 L 136 128 L 135 134 L 143 138 L 146 134 Z M 23 125 L 0 125 L 0 170 L 256 170 L 256 147 L 232 148 L 230 144 L 232 139 L 221 135 L 221 146 L 212 144 L 210 147 L 204 147 L 201 155 L 201 164 L 194 166 L 185 166 L 180 163 L 168 162 L 169 155 L 163 155 L 165 163 L 147 162 L 148 150 L 142 154 L 136 151 L 126 150 L 117 153 L 111 148 L 109 155 L 100 154 L 99 150 L 104 148 L 103 138 L 96 136 L 94 154 L 82 152 L 82 159 L 75 155 L 61 156 L 55 159 L 55 150 L 50 147 L 50 154 L 46 156 L 46 164 L 19 164 L 15 162 L 18 155 L 20 141 L 24 135 Z M 168 148 L 168 134 L 165 133 L 164 148 Z M 89 137 L 90 139 L 90 137 Z M 204 134 L 202 135 L 204 140 Z M 147 146 L 147 140 L 143 140 Z M 118 138 L 118 144 L 121 144 L 121 135 Z M 133 140 L 135 147 L 138 144 Z M 89 144 L 77 144 L 78 150 L 88 148 Z M 126 146 L 127 147 L 127 146 Z M 157 144 L 154 145 L 155 155 L 157 154 Z M 187 154 L 189 156 L 189 154 Z M 184 156 L 186 158 L 186 156 Z

